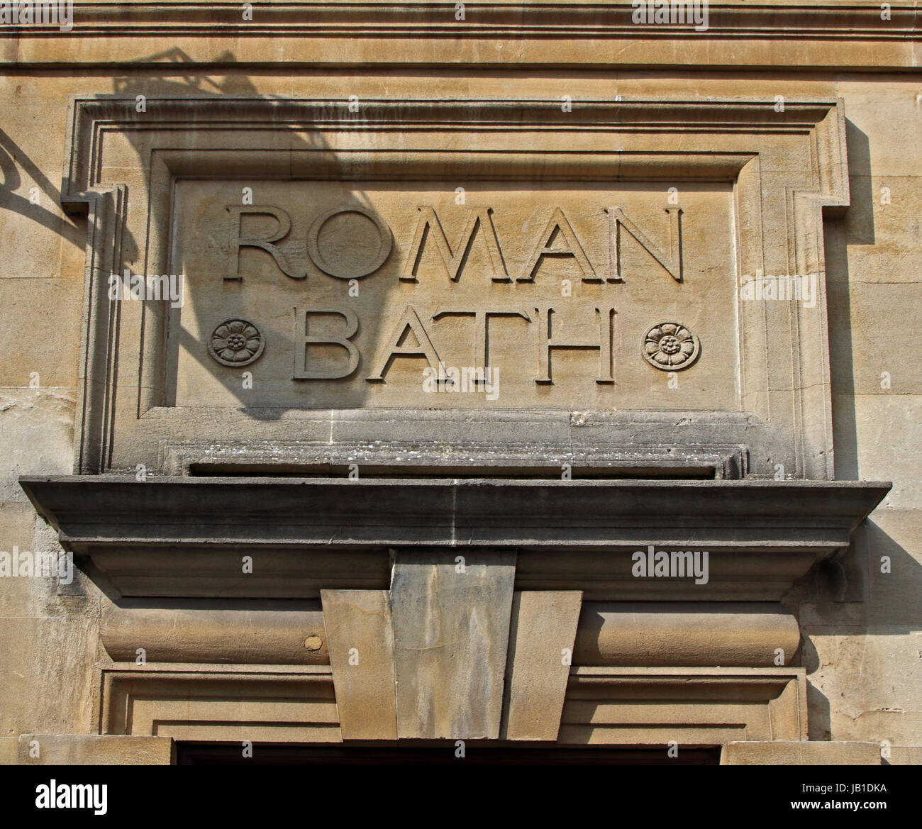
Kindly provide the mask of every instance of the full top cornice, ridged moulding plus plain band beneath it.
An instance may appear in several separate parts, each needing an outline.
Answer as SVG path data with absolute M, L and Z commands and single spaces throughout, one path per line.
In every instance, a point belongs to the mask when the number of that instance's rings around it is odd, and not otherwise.
M 915 68 L 918 9 L 712 3 L 708 28 L 618 3 L 75 4 L 74 28 L 8 27 L 0 65 L 478 65 Z M 850 46 L 850 48 L 848 48 Z M 845 47 L 845 49 L 844 49 Z M 165 52 L 164 49 L 167 51 Z

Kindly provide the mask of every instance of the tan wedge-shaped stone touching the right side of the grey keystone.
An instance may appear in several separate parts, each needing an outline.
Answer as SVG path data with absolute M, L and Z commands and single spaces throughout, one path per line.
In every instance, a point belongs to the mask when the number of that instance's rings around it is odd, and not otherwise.
M 557 740 L 583 594 L 515 591 L 503 694 L 503 740 Z

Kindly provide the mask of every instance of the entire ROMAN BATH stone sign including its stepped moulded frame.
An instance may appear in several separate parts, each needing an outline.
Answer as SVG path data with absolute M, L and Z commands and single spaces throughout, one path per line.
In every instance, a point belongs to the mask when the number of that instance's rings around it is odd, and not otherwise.
M 836 101 L 156 112 L 72 105 L 77 470 L 832 475 Z

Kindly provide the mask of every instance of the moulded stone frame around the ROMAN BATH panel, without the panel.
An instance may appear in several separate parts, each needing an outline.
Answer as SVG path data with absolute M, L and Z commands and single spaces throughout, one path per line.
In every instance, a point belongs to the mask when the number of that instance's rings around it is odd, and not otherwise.
M 347 101 L 221 97 L 148 98 L 137 113 L 134 98 L 74 97 L 62 202 L 89 219 L 75 472 L 142 463 L 183 474 L 231 456 L 255 466 L 406 468 L 408 450 L 412 464 L 431 467 L 443 457 L 433 447 L 451 444 L 454 466 L 579 466 L 591 456 L 603 467 L 678 465 L 711 477 L 768 476 L 780 463 L 788 476 L 832 478 L 822 217 L 848 205 L 845 117 L 841 101 L 775 109 L 651 99 L 573 101 L 563 113 L 546 100 L 376 100 L 349 113 Z M 134 158 L 120 154 L 116 134 L 130 136 Z M 323 147 L 294 149 L 297 135 L 322 137 Z M 167 303 L 110 302 L 106 279 L 124 268 L 126 233 L 145 252 L 136 270 L 169 271 L 177 178 L 252 178 L 254 163 L 277 179 L 437 169 L 462 180 L 731 182 L 739 274 L 816 273 L 817 307 L 738 302 L 739 411 L 297 410 L 268 424 L 241 411 L 176 409 L 165 382 Z M 239 442 L 228 439 L 238 432 Z

